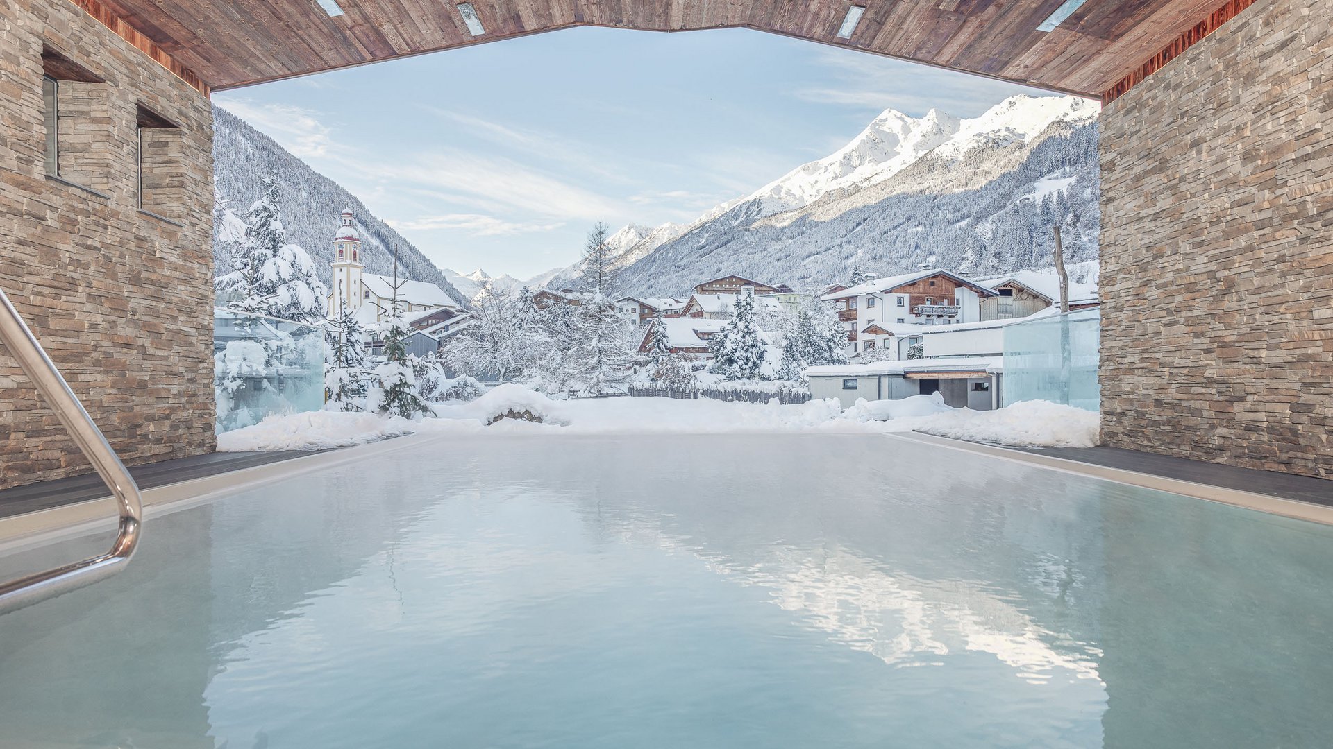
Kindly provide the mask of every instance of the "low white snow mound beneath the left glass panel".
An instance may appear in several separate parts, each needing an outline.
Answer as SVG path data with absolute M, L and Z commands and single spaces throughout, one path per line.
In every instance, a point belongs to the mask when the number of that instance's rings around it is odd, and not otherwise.
M 217 452 L 323 450 L 364 445 L 415 432 L 405 418 L 384 418 L 373 413 L 315 410 L 268 418 L 217 436 Z

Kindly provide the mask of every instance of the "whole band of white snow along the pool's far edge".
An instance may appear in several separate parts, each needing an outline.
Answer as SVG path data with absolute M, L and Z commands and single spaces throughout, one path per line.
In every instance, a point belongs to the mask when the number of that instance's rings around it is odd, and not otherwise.
M 938 396 L 798 405 L 717 400 L 612 397 L 553 401 L 519 385 L 501 385 L 472 402 L 436 404 L 436 417 L 407 420 L 369 413 L 315 412 L 273 416 L 217 437 L 219 452 L 308 450 L 359 445 L 409 433 L 476 434 L 725 434 L 922 432 L 1014 446 L 1092 446 L 1097 414 L 1045 401 L 1000 410 L 953 409 Z M 541 422 L 504 418 L 527 412 Z

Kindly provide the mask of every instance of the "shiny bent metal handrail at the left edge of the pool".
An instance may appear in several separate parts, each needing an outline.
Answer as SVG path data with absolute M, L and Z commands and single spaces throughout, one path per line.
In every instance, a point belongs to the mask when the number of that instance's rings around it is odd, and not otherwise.
M 143 504 L 139 498 L 139 485 L 125 470 L 125 464 L 107 444 L 107 437 L 93 424 L 65 378 L 60 376 L 60 371 L 41 349 L 41 344 L 9 303 L 4 289 L 0 289 L 0 344 L 4 344 L 9 355 L 19 361 L 19 368 L 36 385 L 37 393 L 92 462 L 97 476 L 111 489 L 120 510 L 116 542 L 105 554 L 0 582 L 0 613 L 5 613 L 83 588 L 124 569 L 135 553 L 135 546 L 139 545 Z

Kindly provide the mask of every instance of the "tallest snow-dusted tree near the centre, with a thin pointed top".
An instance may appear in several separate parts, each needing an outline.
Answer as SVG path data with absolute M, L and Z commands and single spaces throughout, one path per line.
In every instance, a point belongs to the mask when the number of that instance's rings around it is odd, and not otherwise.
M 620 392 L 629 377 L 633 344 L 629 324 L 616 312 L 615 253 L 607 244 L 607 225 L 597 224 L 588 235 L 584 249 L 583 279 L 591 297 L 577 308 L 575 331 L 579 344 L 573 349 L 576 376 L 583 393 L 601 396 Z

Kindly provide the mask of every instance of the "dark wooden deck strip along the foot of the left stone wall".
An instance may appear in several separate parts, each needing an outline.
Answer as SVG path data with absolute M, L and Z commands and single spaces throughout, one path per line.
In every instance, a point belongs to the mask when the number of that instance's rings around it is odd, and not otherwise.
M 312 452 L 269 452 L 269 453 L 212 453 L 129 468 L 131 476 L 140 489 L 165 486 L 192 478 L 205 478 L 243 468 L 253 468 L 313 454 Z M 96 473 L 71 476 L 55 481 L 39 481 L 25 486 L 0 490 L 0 518 L 24 514 L 60 505 L 84 502 L 109 496 L 107 486 Z

